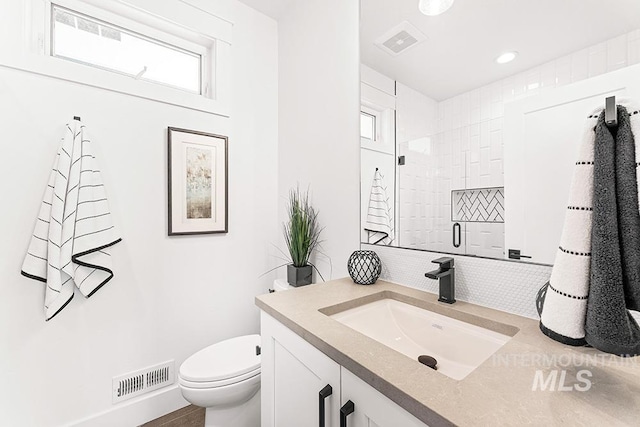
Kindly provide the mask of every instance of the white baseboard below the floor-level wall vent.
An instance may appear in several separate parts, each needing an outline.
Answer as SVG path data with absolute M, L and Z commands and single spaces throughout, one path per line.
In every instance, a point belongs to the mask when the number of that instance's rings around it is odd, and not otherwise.
M 139 426 L 189 405 L 177 384 L 163 388 L 130 402 L 91 415 L 70 425 L 73 427 Z

